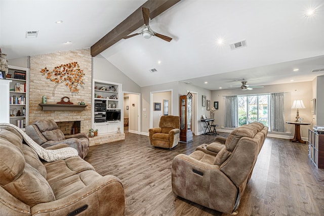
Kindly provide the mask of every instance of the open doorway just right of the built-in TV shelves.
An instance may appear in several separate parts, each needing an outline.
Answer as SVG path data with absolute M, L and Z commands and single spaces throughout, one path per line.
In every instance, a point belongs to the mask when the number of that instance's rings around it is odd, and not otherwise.
M 124 133 L 140 134 L 141 132 L 141 94 L 124 92 L 123 113 Z

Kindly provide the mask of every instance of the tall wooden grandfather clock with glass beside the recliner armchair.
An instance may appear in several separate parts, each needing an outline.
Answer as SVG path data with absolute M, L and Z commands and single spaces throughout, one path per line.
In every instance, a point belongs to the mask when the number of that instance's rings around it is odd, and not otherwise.
M 180 142 L 193 141 L 192 123 L 192 94 L 180 96 Z

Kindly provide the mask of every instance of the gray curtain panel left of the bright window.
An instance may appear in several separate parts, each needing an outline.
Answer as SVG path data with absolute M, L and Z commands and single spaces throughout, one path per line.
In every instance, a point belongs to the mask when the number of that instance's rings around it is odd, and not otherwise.
M 238 127 L 237 96 L 225 96 L 225 127 Z

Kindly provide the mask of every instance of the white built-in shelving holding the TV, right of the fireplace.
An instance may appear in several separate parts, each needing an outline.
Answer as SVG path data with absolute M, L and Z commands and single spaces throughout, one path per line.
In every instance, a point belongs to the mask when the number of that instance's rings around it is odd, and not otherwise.
M 98 135 L 124 133 L 123 126 L 123 85 L 121 83 L 93 80 L 93 128 Z M 103 107 L 105 108 L 103 111 Z M 120 111 L 119 119 L 106 119 L 106 111 Z M 108 112 L 107 112 L 108 113 Z

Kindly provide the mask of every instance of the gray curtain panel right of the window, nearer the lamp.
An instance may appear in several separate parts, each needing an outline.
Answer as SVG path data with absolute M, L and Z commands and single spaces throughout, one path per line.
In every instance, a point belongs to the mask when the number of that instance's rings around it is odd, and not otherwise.
M 270 131 L 286 132 L 284 93 L 270 94 Z

